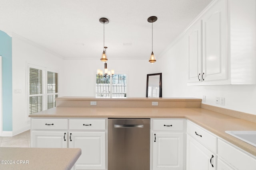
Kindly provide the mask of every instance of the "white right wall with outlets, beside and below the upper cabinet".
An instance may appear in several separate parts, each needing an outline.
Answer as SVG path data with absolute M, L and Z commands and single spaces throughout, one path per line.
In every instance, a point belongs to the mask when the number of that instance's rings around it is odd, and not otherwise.
M 162 65 L 163 97 L 206 96 L 204 104 L 256 115 L 256 85 L 187 86 L 187 45 L 183 37 L 158 60 Z M 224 97 L 225 106 L 216 105 L 215 97 Z

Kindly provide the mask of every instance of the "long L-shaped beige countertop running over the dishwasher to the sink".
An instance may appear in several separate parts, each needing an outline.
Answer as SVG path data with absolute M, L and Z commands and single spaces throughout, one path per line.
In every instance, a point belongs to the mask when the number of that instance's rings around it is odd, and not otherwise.
M 252 115 L 255 116 L 255 115 Z M 256 131 L 256 123 L 203 108 L 55 107 L 32 118 L 186 118 L 256 156 L 256 147 L 225 131 Z

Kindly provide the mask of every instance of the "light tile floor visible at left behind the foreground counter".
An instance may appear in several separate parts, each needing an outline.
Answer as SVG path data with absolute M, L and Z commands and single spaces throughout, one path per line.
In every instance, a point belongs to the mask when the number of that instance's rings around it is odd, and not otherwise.
M 0 147 L 31 147 L 30 130 L 13 137 L 0 136 Z

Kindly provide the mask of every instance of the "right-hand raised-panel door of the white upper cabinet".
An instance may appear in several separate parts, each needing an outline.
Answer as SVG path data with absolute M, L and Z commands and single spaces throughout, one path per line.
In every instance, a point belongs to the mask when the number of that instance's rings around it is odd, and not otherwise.
M 228 79 L 227 0 L 221 0 L 202 17 L 203 81 Z

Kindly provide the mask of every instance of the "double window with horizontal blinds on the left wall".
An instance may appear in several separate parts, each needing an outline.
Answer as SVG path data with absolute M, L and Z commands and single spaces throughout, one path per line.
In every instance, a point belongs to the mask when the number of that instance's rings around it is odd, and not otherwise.
M 57 97 L 58 73 L 30 67 L 29 114 L 56 107 L 55 98 Z

